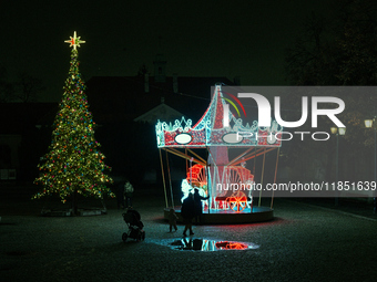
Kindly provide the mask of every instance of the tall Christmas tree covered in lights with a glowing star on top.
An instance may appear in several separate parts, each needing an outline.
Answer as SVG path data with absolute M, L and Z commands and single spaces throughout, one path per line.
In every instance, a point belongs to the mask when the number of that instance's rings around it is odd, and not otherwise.
M 39 199 L 47 195 L 59 195 L 63 202 L 73 198 L 77 212 L 77 196 L 94 196 L 103 199 L 104 194 L 114 195 L 106 185 L 112 179 L 104 174 L 110 167 L 103 161 L 104 155 L 99 150 L 100 144 L 94 138 L 92 114 L 89 112 L 85 84 L 79 72 L 78 50 L 80 40 L 74 32 L 73 38 L 64 41 L 70 43 L 71 66 L 62 101 L 53 123 L 52 140 L 49 153 L 38 165 L 40 177 L 34 184 L 43 189 L 33 196 Z

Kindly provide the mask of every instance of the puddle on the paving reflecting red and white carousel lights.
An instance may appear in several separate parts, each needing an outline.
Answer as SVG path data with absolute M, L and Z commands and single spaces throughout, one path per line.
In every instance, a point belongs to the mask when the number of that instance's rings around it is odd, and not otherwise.
M 181 238 L 167 243 L 174 250 L 193 250 L 212 252 L 221 250 L 249 250 L 258 249 L 259 246 L 249 242 L 235 242 L 226 240 L 211 240 L 203 238 Z

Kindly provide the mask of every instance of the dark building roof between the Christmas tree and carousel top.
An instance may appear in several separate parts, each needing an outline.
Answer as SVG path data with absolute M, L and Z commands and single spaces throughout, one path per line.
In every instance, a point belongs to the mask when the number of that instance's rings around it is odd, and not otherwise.
M 153 76 L 93 76 L 86 82 L 86 95 L 99 124 L 133 121 L 157 107 L 162 98 L 195 122 L 211 102 L 211 86 L 217 83 L 234 85 L 226 77 L 166 76 L 165 82 L 155 82 Z

